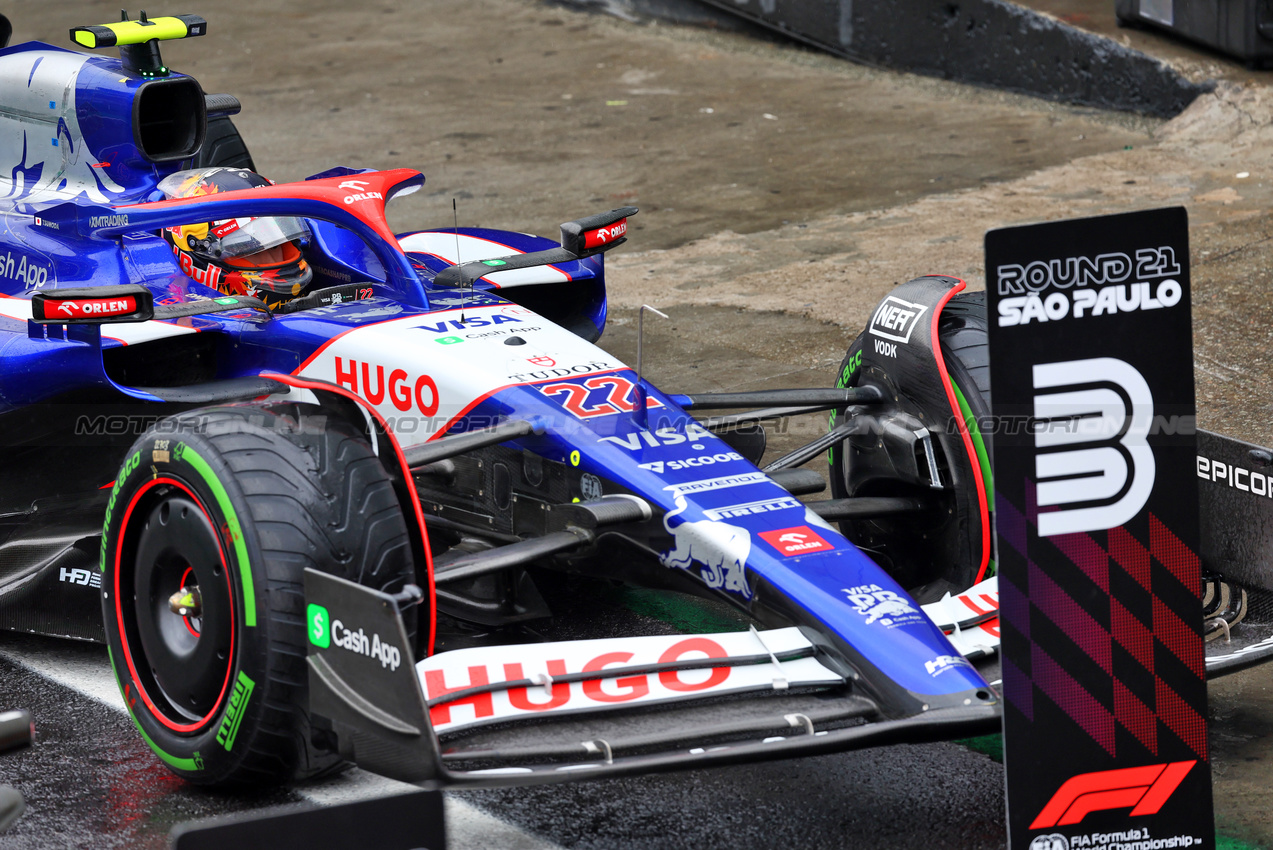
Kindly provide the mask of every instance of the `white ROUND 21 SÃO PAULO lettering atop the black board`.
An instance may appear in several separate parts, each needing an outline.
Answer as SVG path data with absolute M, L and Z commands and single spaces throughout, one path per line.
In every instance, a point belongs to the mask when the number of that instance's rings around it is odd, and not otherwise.
M 999 327 L 1175 307 L 1184 295 L 1175 280 L 1180 263 L 1169 246 L 1141 248 L 1134 261 L 1115 251 L 1004 263 L 995 275 Z

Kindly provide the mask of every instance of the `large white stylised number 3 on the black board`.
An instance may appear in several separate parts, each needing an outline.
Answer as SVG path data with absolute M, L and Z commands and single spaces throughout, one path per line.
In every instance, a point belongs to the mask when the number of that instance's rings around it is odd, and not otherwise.
M 1146 440 L 1153 394 L 1141 373 L 1114 358 L 1041 363 L 1034 388 L 1039 506 L 1062 506 L 1039 512 L 1039 536 L 1115 528 L 1136 517 L 1156 468 Z

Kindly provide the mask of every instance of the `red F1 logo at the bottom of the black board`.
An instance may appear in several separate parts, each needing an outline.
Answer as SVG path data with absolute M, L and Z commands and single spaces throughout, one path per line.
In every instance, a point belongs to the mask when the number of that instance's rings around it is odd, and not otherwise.
M 1041 518 L 1041 515 L 1040 515 Z M 1078 823 L 1091 812 L 1132 808 L 1132 816 L 1157 814 L 1197 761 L 1120 767 L 1080 774 L 1057 789 L 1031 830 Z

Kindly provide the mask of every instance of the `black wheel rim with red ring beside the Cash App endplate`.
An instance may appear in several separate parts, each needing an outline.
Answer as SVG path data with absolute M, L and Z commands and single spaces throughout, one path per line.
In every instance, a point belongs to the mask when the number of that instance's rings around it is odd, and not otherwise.
M 116 616 L 129 676 L 159 723 L 202 732 L 234 665 L 234 597 L 225 548 L 199 498 L 176 478 L 145 482 L 125 512 L 116 554 Z M 168 598 L 197 588 L 200 615 Z

